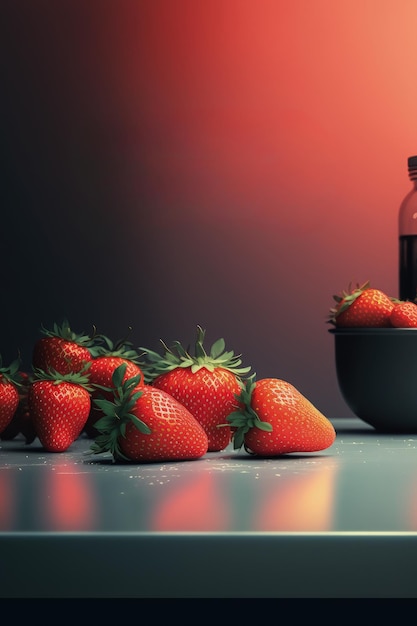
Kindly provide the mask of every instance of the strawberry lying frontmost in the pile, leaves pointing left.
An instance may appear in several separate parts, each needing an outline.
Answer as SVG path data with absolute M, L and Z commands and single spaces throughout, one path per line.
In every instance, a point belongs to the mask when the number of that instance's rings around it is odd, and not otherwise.
M 115 461 L 190 461 L 208 448 L 203 427 L 171 395 L 141 383 L 141 376 L 125 378 L 126 364 L 113 373 L 113 401 L 96 399 L 104 412 L 91 452 L 111 452 Z

